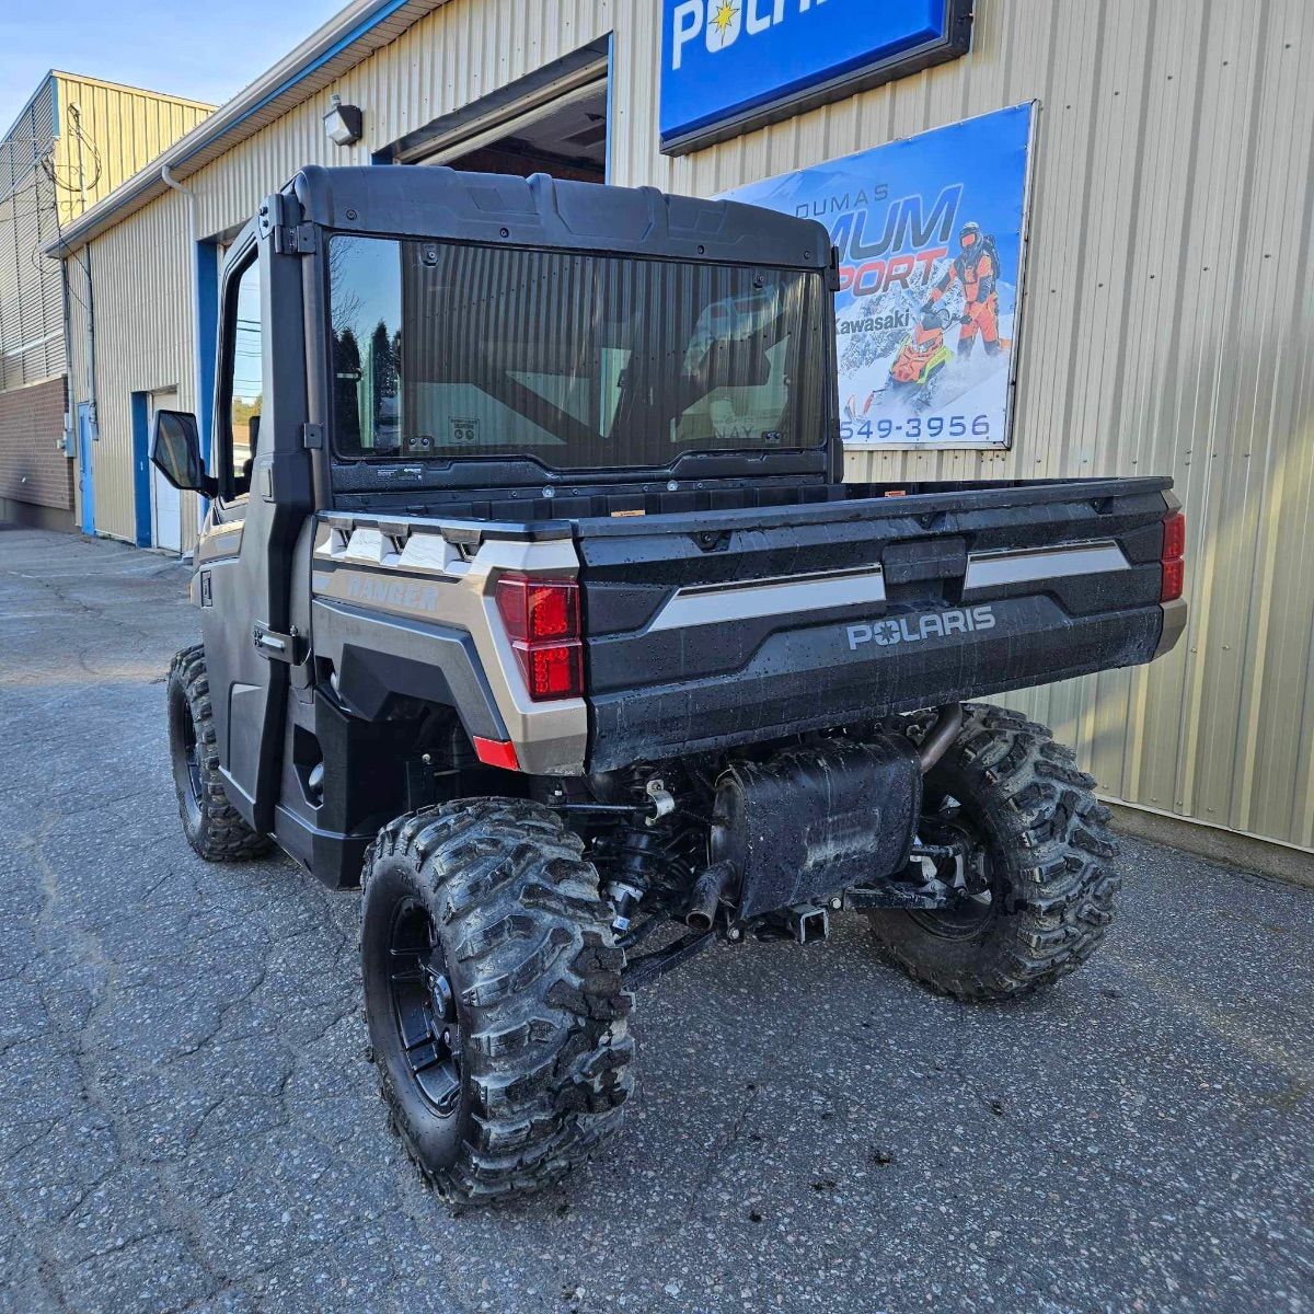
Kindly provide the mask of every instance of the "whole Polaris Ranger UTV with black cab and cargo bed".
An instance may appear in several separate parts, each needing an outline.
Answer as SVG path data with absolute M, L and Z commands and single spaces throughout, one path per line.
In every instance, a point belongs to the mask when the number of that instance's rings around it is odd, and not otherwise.
M 1177 640 L 1167 478 L 844 482 L 825 230 L 443 168 L 307 168 L 238 238 L 202 643 L 206 859 L 364 883 L 384 1100 L 449 1198 L 620 1120 L 633 991 L 865 915 L 933 989 L 1084 962 L 1118 888 L 1074 754 L 964 700 Z

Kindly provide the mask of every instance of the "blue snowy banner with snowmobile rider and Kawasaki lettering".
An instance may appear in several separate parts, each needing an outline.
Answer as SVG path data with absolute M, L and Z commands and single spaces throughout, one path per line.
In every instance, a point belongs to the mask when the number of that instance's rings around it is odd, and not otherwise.
M 1008 447 L 1033 106 L 727 193 L 840 248 L 845 443 Z

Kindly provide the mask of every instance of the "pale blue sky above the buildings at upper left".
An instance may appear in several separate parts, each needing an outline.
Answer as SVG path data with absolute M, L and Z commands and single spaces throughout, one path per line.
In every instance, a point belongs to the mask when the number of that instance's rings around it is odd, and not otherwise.
M 347 0 L 0 0 L 0 133 L 50 68 L 222 104 Z

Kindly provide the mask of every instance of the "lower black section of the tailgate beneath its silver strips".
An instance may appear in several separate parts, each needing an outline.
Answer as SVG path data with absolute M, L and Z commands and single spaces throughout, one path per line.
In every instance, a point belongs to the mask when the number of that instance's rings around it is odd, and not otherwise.
M 590 769 L 765 742 L 1134 666 L 1171 648 L 1184 624 L 1173 604 L 1071 616 L 1046 597 L 1030 597 L 972 610 L 983 612 L 982 622 L 967 633 L 957 625 L 947 636 L 926 633 L 926 618 L 940 612 L 828 623 L 773 635 L 735 674 L 594 695 Z

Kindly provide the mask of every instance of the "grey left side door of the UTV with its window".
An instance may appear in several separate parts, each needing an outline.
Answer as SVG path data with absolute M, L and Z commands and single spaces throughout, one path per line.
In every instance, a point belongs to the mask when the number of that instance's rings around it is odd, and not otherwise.
M 272 832 L 290 664 L 297 532 L 313 510 L 301 259 L 252 226 L 221 289 L 212 470 L 218 497 L 198 549 L 201 635 L 233 805 Z

